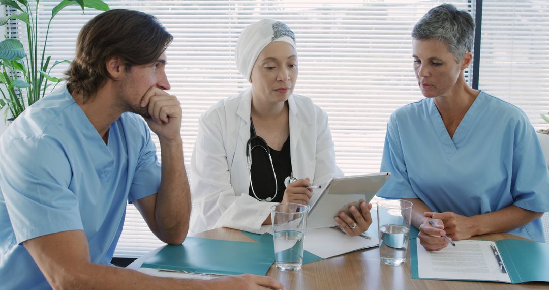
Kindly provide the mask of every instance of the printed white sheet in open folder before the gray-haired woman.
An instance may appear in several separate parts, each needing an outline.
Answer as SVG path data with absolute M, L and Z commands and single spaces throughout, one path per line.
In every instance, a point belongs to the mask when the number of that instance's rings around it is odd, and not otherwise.
M 454 241 L 456 247 L 433 252 L 425 250 L 419 239 L 416 242 L 419 278 L 511 282 L 509 275 L 501 272 L 490 248 L 490 244 L 496 246 L 494 242 Z

